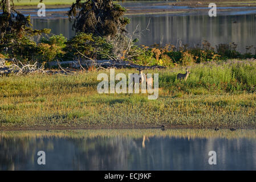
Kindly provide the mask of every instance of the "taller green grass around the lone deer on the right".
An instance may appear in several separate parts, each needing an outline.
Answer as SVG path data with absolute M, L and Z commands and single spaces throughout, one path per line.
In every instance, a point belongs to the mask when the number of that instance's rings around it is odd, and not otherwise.
M 196 94 L 198 90 L 207 93 L 255 92 L 256 61 L 229 61 L 226 63 L 206 63 L 188 67 L 192 74 L 187 81 L 177 80 L 177 73 L 185 73 L 185 68 L 166 70 L 160 75 L 160 87 L 170 91 Z

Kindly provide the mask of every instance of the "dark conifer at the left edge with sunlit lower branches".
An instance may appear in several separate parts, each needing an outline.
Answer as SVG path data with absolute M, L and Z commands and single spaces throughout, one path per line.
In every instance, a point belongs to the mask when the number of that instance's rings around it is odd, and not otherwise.
M 0 50 L 5 54 L 21 59 L 31 59 L 35 53 L 35 42 L 29 38 L 42 33 L 48 34 L 50 30 L 33 30 L 30 16 L 25 16 L 15 9 L 10 9 L 10 1 L 0 1 L 3 13 L 0 14 Z M 12 1 L 13 2 L 13 1 Z

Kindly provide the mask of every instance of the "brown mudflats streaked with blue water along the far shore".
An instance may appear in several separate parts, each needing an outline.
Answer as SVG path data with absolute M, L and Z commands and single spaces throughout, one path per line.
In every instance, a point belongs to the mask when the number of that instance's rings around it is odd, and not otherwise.
M 145 3 L 145 6 L 143 6 Z M 210 1 L 189 1 L 189 2 L 125 2 L 120 3 L 127 9 L 125 16 L 136 15 L 207 15 L 208 5 Z M 151 6 L 147 6 L 147 3 Z M 239 2 L 239 1 L 216 1 L 217 10 L 219 15 L 229 15 L 230 12 L 242 12 L 241 14 L 255 14 L 256 13 L 256 1 Z M 35 19 L 56 19 L 56 18 L 68 18 L 67 11 L 71 5 L 46 5 L 48 11 L 46 11 L 46 17 L 37 16 L 37 6 L 15 6 L 15 9 L 21 11 L 23 14 L 31 15 L 31 18 Z M 153 7 L 153 8 L 152 8 Z M 226 7 L 226 8 L 224 8 Z M 219 9 L 220 8 L 220 9 Z M 63 11 L 62 11 L 63 9 Z M 52 11 L 51 11 L 52 10 Z M 207 11 L 206 11 L 207 10 Z M 248 12 L 246 12 L 248 11 Z

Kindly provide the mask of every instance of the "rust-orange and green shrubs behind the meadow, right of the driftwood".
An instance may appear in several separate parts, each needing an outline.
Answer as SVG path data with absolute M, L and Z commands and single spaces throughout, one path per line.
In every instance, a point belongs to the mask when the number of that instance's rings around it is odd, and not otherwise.
M 235 51 L 236 44 L 220 44 L 217 49 L 210 46 L 210 43 L 206 40 L 202 42 L 201 47 L 188 48 L 188 45 L 181 45 L 175 47 L 170 44 L 166 44 L 161 47 L 159 44 L 155 44 L 151 47 L 133 46 L 130 54 L 136 55 L 133 57 L 127 57 L 127 60 L 132 60 L 134 63 L 140 65 L 162 65 L 165 67 L 173 67 L 174 65 L 193 65 L 194 63 L 204 63 L 210 61 L 227 60 L 231 58 L 246 59 L 256 57 L 250 52 L 250 47 L 246 47 L 246 53 L 242 54 Z M 256 50 L 256 49 L 255 49 Z M 149 53 L 151 52 L 151 53 Z

